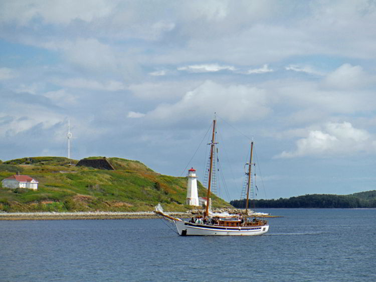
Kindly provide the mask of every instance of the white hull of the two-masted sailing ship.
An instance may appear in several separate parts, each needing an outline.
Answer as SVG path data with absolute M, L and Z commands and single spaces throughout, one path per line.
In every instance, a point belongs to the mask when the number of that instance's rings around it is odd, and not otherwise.
M 269 225 L 255 227 L 225 227 L 218 225 L 197 224 L 188 221 L 174 221 L 179 235 L 199 236 L 251 236 L 268 232 Z

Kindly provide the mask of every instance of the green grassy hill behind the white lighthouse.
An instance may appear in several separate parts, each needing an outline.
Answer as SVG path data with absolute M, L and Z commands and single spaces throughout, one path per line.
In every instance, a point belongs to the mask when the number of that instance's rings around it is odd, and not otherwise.
M 103 157 L 92 157 L 103 158 Z M 39 181 L 38 190 L 0 189 L 3 211 L 185 211 L 186 177 L 161 175 L 139 161 L 108 158 L 115 170 L 69 165 L 64 157 L 22 158 L 0 163 L 0 179 L 16 174 Z M 71 163 L 77 163 L 72 160 Z M 198 183 L 199 196 L 206 189 Z M 213 207 L 230 206 L 213 196 Z

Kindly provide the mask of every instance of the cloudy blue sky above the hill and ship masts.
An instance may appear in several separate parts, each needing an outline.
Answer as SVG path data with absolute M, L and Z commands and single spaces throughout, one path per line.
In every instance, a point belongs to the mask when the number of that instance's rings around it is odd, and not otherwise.
M 257 198 L 374 190 L 375 66 L 371 0 L 3 0 L 0 159 L 68 156 L 70 121 L 74 159 L 202 181 L 216 116 L 225 200 L 252 139 Z

